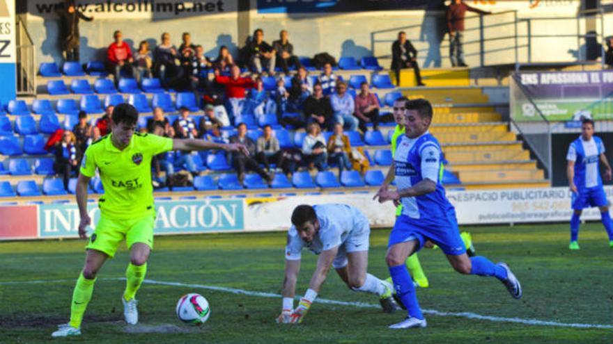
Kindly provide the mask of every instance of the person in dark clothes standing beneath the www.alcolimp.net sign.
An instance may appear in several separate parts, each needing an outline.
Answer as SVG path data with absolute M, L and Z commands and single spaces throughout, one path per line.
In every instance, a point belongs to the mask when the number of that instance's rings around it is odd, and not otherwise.
M 64 60 L 79 62 L 79 19 L 91 22 L 92 17 L 86 17 L 75 7 L 75 0 L 66 0 L 63 6 L 56 10 L 60 17 L 61 35 L 60 47 Z

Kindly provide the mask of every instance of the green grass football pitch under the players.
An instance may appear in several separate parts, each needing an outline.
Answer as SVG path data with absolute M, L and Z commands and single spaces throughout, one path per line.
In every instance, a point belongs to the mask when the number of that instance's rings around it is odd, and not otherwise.
M 430 288 L 417 290 L 424 309 L 613 323 L 613 249 L 600 224 L 582 226 L 578 252 L 568 250 L 567 224 L 463 230 L 472 232 L 478 254 L 511 265 L 522 282 L 524 297 L 513 300 L 496 279 L 459 275 L 440 250 L 424 249 L 419 257 Z M 384 278 L 388 276 L 384 259 L 388 234 L 389 230 L 373 230 L 369 254 L 369 272 Z M 284 245 L 285 234 L 278 232 L 157 237 L 147 278 L 278 294 L 284 277 Z M 613 329 L 456 316 L 430 315 L 426 329 L 394 331 L 387 325 L 402 320 L 404 311 L 390 315 L 380 309 L 318 303 L 302 325 L 277 325 L 278 298 L 153 284 L 143 284 L 137 295 L 140 324 L 127 327 L 120 300 L 125 282 L 109 279 L 123 277 L 128 260 L 125 247 L 100 272 L 83 335 L 52 340 L 56 325 L 68 318 L 83 248 L 84 242 L 78 240 L 0 243 L 0 343 L 613 343 Z M 307 289 L 316 262 L 309 252 L 302 257 L 299 294 Z M 67 281 L 56 281 L 63 279 Z M 33 280 L 54 281 L 27 283 Z M 211 318 L 202 327 L 176 319 L 176 302 L 189 292 L 201 293 L 210 302 Z M 320 297 L 378 304 L 373 295 L 348 290 L 334 271 Z

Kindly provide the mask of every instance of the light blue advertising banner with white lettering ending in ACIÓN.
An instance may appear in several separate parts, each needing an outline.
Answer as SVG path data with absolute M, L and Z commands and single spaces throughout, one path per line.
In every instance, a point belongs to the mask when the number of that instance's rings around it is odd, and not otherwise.
M 205 199 L 190 202 L 157 202 L 155 204 L 155 235 L 198 234 L 212 231 L 242 231 L 245 229 L 245 209 L 242 199 Z M 93 233 L 100 219 L 100 210 L 88 205 Z M 38 206 L 40 238 L 77 237 L 79 209 L 76 204 L 43 204 Z

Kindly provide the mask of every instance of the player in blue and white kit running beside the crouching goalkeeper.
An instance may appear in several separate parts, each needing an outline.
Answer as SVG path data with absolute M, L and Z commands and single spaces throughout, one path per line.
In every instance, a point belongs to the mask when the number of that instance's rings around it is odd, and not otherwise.
M 494 264 L 483 256 L 469 257 L 458 231 L 456 211 L 445 196 L 440 181 L 442 151 L 436 138 L 428 132 L 432 123 L 432 106 L 426 99 L 406 102 L 405 135 L 398 137 L 391 169 L 397 190 L 388 190 L 386 178 L 375 199 L 402 204 L 402 215 L 396 218 L 389 234 L 387 256 L 389 274 L 396 295 L 408 310 L 408 317 L 391 325 L 391 329 L 426 327 L 411 277 L 405 265 L 410 254 L 419 251 L 427 240 L 438 245 L 457 272 L 465 275 L 494 276 L 506 286 L 515 299 L 522 297 L 520 282 L 508 265 Z

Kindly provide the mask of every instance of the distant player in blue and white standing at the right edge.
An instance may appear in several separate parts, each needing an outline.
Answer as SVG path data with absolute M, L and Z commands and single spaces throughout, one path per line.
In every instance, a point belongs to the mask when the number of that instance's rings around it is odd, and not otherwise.
M 605 145 L 598 136 L 593 136 L 593 121 L 584 119 L 581 136 L 571 143 L 566 154 L 566 176 L 571 187 L 571 244 L 569 249 L 579 249 L 579 218 L 584 208 L 598 206 L 600 219 L 609 235 L 609 247 L 613 248 L 613 223 L 609 214 L 609 202 L 600 178 L 599 162 L 605 165 L 605 179 L 611 180 L 611 166 L 605 156 Z

